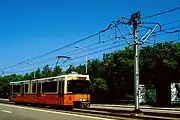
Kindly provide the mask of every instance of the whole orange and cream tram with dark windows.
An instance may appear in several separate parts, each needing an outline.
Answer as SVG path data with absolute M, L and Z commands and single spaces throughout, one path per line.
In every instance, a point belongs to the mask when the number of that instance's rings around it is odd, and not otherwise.
M 11 82 L 15 103 L 86 108 L 90 106 L 89 75 L 68 74 L 34 80 Z

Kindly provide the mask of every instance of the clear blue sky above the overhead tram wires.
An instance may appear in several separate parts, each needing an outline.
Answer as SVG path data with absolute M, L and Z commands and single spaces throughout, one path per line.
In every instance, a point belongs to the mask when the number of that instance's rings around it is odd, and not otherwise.
M 91 35 L 138 10 L 148 16 L 178 6 L 179 0 L 1 0 L 0 68 Z M 149 20 L 167 23 L 179 13 Z

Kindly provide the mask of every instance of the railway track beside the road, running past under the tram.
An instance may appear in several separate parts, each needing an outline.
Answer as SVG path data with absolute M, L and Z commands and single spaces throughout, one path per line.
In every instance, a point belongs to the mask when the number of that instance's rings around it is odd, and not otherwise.
M 8 101 L 0 101 L 1 104 L 9 104 L 14 105 L 14 102 L 8 102 Z M 60 109 L 53 106 L 31 106 L 31 105 L 16 105 L 16 106 L 23 106 L 23 107 L 30 107 L 30 108 L 36 108 L 36 109 L 44 109 L 44 110 L 50 110 L 50 111 L 56 111 L 56 112 L 63 112 L 63 113 L 70 113 L 70 114 L 78 114 L 78 115 L 86 115 L 86 116 L 95 116 L 95 117 L 103 117 L 107 119 L 113 119 L 113 120 L 137 120 L 137 119 L 144 119 L 144 120 L 174 120 L 176 118 L 173 117 L 163 117 L 163 116 L 153 116 L 153 115 L 139 115 L 135 116 L 131 113 L 126 112 L 113 112 L 110 110 L 95 110 L 95 109 L 76 109 L 73 110 L 67 110 L 67 109 Z

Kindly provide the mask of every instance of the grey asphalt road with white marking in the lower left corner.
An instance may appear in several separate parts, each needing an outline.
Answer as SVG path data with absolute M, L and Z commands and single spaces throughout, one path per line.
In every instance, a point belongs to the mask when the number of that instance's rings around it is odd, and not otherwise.
M 0 120 L 112 120 L 27 106 L 0 103 Z

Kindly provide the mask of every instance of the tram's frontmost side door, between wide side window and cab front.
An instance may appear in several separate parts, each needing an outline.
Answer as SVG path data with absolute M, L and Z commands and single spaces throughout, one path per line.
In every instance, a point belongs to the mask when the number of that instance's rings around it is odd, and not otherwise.
M 61 80 L 58 82 L 59 88 L 58 88 L 58 104 L 63 105 L 64 104 L 64 80 Z

